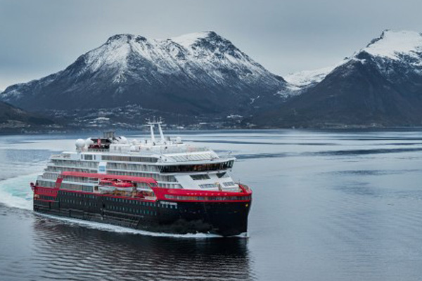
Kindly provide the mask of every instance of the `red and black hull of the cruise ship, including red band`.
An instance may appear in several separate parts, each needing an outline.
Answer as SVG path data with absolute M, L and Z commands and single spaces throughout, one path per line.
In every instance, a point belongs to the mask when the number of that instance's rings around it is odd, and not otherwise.
M 65 190 L 60 188 L 63 178 L 58 178 L 55 188 L 32 186 L 34 211 L 160 233 L 231 236 L 248 230 L 252 191 L 245 185 L 240 185 L 242 192 L 219 192 L 160 188 L 152 178 L 75 172 L 63 176 L 143 181 L 151 184 L 155 196 Z

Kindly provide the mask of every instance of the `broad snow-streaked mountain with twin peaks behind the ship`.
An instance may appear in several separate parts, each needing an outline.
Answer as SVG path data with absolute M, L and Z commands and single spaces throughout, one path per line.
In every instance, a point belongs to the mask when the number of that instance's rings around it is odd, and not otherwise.
M 158 115 L 222 117 L 271 105 L 285 87 L 215 32 L 162 40 L 118 34 L 65 70 L 8 86 L 0 98 L 30 111 L 137 105 Z

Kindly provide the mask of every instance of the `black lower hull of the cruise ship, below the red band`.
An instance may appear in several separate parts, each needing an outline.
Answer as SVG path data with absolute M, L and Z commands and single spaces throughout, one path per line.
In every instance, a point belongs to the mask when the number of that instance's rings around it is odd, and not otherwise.
M 250 202 L 146 202 L 60 190 L 34 211 L 158 233 L 234 236 L 248 230 Z

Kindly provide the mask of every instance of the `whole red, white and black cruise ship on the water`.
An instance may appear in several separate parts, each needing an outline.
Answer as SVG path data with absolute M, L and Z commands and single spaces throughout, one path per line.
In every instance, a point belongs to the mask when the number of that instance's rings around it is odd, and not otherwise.
M 235 157 L 148 125 L 149 139 L 107 132 L 52 155 L 31 183 L 34 211 L 159 233 L 247 233 L 252 190 L 229 175 Z

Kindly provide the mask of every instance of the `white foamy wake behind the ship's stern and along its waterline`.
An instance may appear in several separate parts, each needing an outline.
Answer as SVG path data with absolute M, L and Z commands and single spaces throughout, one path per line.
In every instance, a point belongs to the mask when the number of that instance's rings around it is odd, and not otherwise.
M 5 204 L 8 207 L 32 210 L 32 190 L 30 188 L 30 182 L 34 182 L 38 174 L 31 174 L 25 176 L 19 176 L 16 178 L 8 178 L 4 181 L 0 181 L 0 203 Z M 115 233 L 131 233 L 139 235 L 148 235 L 154 237 L 179 237 L 179 238 L 217 238 L 222 237 L 220 235 L 208 234 L 208 233 L 190 233 L 190 234 L 170 234 L 170 233 L 152 233 L 144 230 L 134 230 L 131 228 L 124 228 L 122 226 L 113 226 L 106 223 L 96 223 L 92 221 L 82 221 L 76 218 L 63 218 L 59 216 L 51 216 L 47 214 L 39 214 L 39 216 L 45 216 L 53 218 L 57 221 L 68 223 L 73 226 L 85 226 L 88 228 L 94 228 L 98 230 L 106 230 Z M 248 237 L 248 235 L 238 235 L 237 237 Z

